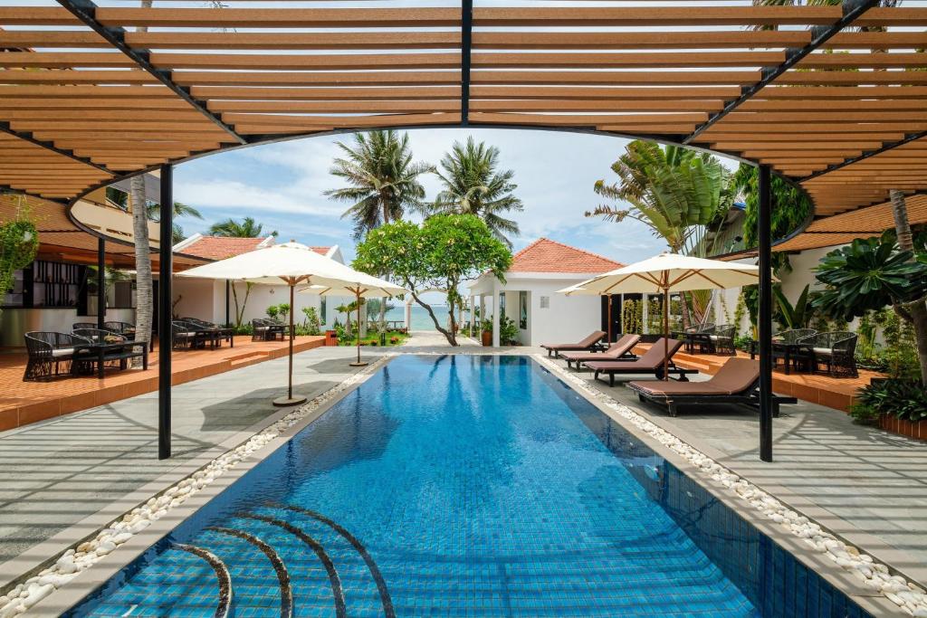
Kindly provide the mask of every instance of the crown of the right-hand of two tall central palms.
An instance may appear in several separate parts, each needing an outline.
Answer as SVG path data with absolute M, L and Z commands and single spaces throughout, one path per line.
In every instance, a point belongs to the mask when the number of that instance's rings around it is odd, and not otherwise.
M 444 190 L 438 194 L 432 212 L 471 214 L 482 219 L 496 238 L 512 247 L 505 234 L 517 234 L 518 224 L 505 219 L 500 213 L 524 210 L 522 201 L 513 192 L 518 185 L 512 182 L 514 170 L 500 171 L 499 148 L 478 145 L 473 137 L 466 144 L 454 142 L 451 152 L 441 159 L 436 171 Z

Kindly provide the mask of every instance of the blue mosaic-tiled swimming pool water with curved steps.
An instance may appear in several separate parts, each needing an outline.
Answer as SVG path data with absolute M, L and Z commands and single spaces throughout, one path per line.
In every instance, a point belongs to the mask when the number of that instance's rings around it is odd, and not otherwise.
M 478 356 L 394 359 L 72 615 L 226 608 L 866 615 L 534 361 Z

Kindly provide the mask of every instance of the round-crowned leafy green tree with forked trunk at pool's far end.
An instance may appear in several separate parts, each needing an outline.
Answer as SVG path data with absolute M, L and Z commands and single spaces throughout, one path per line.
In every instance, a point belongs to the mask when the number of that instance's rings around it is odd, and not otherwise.
M 491 271 L 500 281 L 512 265 L 512 253 L 475 215 L 434 215 L 421 225 L 396 221 L 367 233 L 357 247 L 354 268 L 391 272 L 423 307 L 435 328 L 457 346 L 457 308 L 464 301 L 462 281 Z M 441 326 L 434 309 L 422 300 L 425 290 L 447 294 L 451 328 Z

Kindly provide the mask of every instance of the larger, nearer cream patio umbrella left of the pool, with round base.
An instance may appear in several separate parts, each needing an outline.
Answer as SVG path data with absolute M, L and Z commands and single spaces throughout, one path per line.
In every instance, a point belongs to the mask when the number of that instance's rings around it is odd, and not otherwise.
M 293 292 L 297 285 L 357 286 L 373 282 L 390 285 L 355 271 L 349 266 L 316 253 L 310 247 L 295 241 L 268 246 L 229 259 L 197 266 L 176 273 L 178 277 L 225 279 L 256 284 L 287 284 L 290 288 L 289 372 L 286 397 L 273 400 L 274 406 L 297 406 L 306 397 L 293 397 Z

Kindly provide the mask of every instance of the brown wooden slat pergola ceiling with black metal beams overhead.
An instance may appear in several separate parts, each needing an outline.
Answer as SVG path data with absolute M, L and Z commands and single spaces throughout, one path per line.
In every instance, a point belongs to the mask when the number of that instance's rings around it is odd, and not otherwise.
M 32 195 L 289 136 L 461 124 L 711 148 L 804 183 L 819 216 L 927 189 L 923 0 L 23 4 L 0 6 L 0 185 Z

